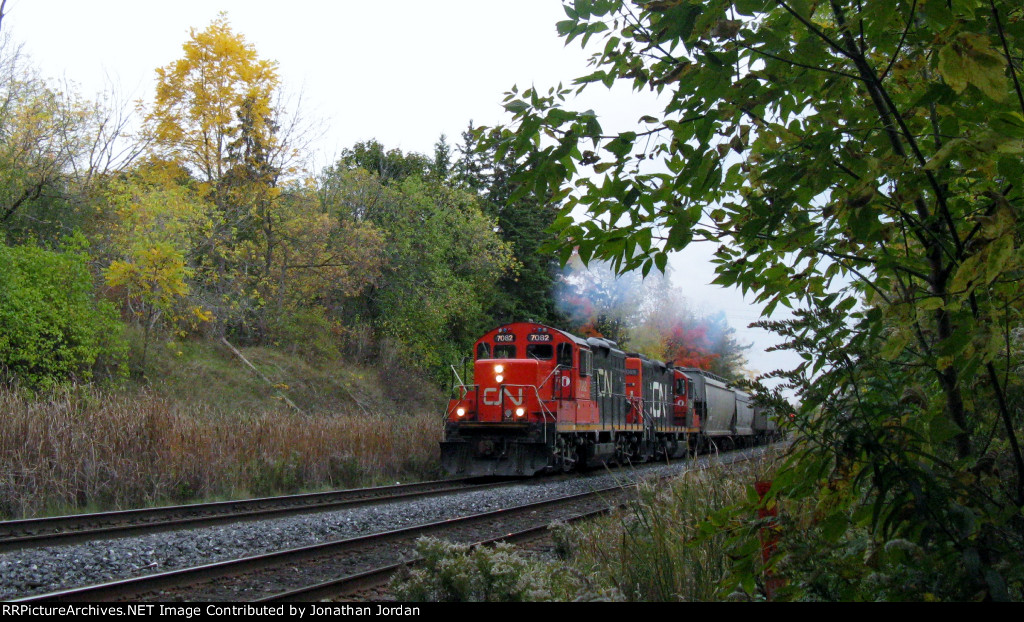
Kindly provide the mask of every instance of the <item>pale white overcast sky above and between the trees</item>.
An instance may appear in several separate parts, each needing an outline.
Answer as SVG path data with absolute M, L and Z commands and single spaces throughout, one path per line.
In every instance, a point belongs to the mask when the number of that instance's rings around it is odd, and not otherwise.
M 204 30 L 220 11 L 260 57 L 278 61 L 285 89 L 302 94 L 303 115 L 324 121 L 318 165 L 370 138 L 430 154 L 441 133 L 457 143 L 471 119 L 507 121 L 501 101 L 513 84 L 547 89 L 587 71 L 587 52 L 555 32 L 565 18 L 557 0 L 7 0 L 3 29 L 44 76 L 74 82 L 85 96 L 113 82 L 152 100 L 155 70 L 179 58 L 189 29 Z M 616 88 L 577 106 L 597 110 L 613 130 L 651 102 Z M 773 337 L 746 328 L 758 308 L 710 285 L 713 251 L 705 244 L 676 254 L 674 282 L 695 308 L 725 312 L 738 339 L 755 344 L 750 367 L 792 366 L 792 355 L 763 353 Z

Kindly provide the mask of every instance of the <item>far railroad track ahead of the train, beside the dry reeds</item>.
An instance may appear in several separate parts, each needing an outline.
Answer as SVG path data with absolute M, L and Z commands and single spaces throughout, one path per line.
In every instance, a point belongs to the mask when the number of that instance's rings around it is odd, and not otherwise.
M 239 501 L 4 521 L 0 522 L 0 552 L 330 511 L 513 484 L 515 482 L 477 484 L 469 480 L 436 480 Z

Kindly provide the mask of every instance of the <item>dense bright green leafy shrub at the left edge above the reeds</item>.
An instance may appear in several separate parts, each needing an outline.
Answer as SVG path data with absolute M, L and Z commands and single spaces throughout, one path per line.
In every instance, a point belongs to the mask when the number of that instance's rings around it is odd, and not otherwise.
M 121 333 L 85 255 L 0 245 L 0 373 L 8 379 L 37 388 L 123 373 Z

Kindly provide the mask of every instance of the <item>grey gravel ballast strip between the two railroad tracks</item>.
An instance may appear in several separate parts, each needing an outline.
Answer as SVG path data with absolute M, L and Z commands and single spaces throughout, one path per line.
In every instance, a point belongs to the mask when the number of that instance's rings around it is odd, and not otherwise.
M 701 458 L 703 463 L 707 458 Z M 522 505 L 683 470 L 689 463 L 220 527 L 0 554 L 0 599 L 166 572 Z

